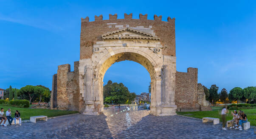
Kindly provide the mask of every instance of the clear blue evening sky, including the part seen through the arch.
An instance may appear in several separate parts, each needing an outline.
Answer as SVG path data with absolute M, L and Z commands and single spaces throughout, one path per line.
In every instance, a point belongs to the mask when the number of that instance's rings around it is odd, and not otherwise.
M 57 66 L 79 61 L 81 17 L 132 13 L 175 17 L 177 71 L 198 68 L 198 82 L 256 86 L 255 0 L 0 0 L 0 88 L 51 88 Z M 113 64 L 104 77 L 130 92 L 147 92 L 149 73 L 140 64 Z

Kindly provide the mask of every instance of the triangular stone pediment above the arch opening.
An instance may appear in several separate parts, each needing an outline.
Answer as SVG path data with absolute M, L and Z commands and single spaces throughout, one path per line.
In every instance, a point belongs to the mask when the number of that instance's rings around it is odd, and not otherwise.
M 103 40 L 108 39 L 151 39 L 151 40 L 160 40 L 157 36 L 139 31 L 133 28 L 123 28 L 117 31 L 112 31 L 102 35 Z

